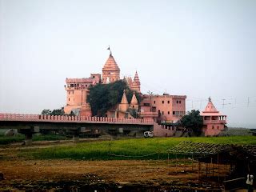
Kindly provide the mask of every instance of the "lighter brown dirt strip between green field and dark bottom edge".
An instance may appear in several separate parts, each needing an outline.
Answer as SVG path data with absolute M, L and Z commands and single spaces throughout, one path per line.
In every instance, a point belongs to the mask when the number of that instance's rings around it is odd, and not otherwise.
M 0 170 L 5 178 L 0 182 L 2 190 L 27 190 L 34 186 L 42 186 L 38 190 L 62 187 L 59 182 L 70 183 L 70 186 L 82 183 L 119 188 L 136 185 L 177 188 L 188 185 L 190 189 L 201 190 L 214 185 L 205 183 L 203 186 L 202 182 L 198 182 L 198 171 L 195 168 L 192 171 L 191 166 L 168 166 L 167 162 L 162 161 L 3 160 Z M 218 186 L 212 187 L 218 189 Z

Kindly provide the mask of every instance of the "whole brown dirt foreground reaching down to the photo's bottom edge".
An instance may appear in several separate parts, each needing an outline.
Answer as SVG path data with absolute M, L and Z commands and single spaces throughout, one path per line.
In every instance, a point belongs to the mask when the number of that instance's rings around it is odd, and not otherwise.
M 0 191 L 194 191 L 221 190 L 198 180 L 194 162 L 26 160 L 17 148 L 0 150 Z M 1 156 L 1 155 L 0 155 Z

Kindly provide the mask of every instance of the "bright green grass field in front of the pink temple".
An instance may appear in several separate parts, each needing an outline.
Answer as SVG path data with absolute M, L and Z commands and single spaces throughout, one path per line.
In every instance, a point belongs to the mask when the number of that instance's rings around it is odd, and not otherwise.
M 77 144 L 74 143 L 70 146 L 52 146 L 43 149 L 21 152 L 19 155 L 24 158 L 35 159 L 167 159 L 166 150 L 183 141 L 208 142 L 216 144 L 221 143 L 256 145 L 256 138 L 253 136 L 234 136 L 218 138 L 129 138 L 105 142 L 83 142 Z M 170 158 L 174 157 L 171 156 Z

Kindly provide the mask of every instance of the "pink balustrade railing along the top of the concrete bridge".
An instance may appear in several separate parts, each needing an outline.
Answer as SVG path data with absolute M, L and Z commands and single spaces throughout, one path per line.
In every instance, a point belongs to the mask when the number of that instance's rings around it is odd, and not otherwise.
M 46 114 L 0 114 L 0 121 L 28 121 L 28 122 L 95 122 L 95 123 L 126 123 L 126 124 L 148 124 L 154 121 L 142 118 L 105 118 L 68 115 L 46 115 Z

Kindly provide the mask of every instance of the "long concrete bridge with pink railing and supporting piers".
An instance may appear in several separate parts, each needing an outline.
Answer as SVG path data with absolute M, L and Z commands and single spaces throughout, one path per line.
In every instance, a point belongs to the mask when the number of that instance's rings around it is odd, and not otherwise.
M 79 134 L 136 134 L 142 135 L 146 130 L 154 130 L 153 120 L 142 118 L 102 118 L 102 117 L 71 117 L 67 115 L 41 114 L 0 114 L 0 129 L 18 129 L 25 134 L 25 143 L 30 145 L 32 135 L 40 130 L 63 130 L 73 134 L 73 140 L 78 141 Z

